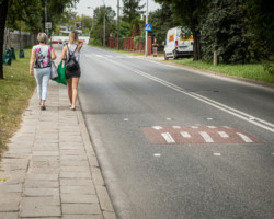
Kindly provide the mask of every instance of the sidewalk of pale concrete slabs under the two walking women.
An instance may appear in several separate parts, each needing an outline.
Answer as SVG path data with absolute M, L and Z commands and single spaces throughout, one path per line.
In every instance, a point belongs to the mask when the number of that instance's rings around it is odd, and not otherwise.
M 79 105 L 49 82 L 47 110 L 35 91 L 0 163 L 0 218 L 115 219 Z

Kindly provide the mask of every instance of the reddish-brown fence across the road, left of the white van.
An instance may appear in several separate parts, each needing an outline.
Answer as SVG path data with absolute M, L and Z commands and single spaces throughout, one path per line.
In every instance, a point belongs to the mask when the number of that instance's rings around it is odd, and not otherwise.
M 117 48 L 117 38 L 110 37 L 109 38 L 109 47 L 110 48 Z M 123 38 L 122 49 L 126 51 L 139 51 L 145 53 L 146 44 L 142 43 L 141 39 L 137 39 L 134 42 L 134 37 L 126 37 Z M 152 37 L 148 37 L 148 55 L 151 54 L 152 49 Z

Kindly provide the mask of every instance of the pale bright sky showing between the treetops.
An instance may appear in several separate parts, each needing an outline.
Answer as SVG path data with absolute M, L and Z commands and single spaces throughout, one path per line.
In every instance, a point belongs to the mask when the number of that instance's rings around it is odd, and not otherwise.
M 76 5 L 76 11 L 78 15 L 93 15 L 93 9 L 103 5 L 103 1 L 106 7 L 112 7 L 112 9 L 117 13 L 117 0 L 80 0 Z M 146 3 L 147 0 L 141 0 L 141 4 Z M 92 7 L 93 9 L 88 9 L 88 7 Z M 119 7 L 123 7 L 123 0 L 119 0 Z M 160 5 L 156 3 L 153 0 L 148 0 L 148 11 L 155 11 L 159 9 Z M 147 9 L 146 7 L 144 8 Z M 119 12 L 122 14 L 122 10 Z

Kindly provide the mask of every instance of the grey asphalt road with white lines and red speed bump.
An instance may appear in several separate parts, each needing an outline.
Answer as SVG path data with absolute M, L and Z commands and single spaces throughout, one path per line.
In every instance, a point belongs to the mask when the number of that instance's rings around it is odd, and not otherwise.
M 273 89 L 88 46 L 81 70 L 118 218 L 274 218 Z

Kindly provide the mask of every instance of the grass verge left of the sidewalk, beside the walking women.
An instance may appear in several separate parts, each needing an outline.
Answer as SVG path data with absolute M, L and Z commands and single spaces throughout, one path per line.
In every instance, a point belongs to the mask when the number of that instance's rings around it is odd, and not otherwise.
M 30 76 L 31 49 L 24 49 L 25 58 L 19 58 L 11 66 L 3 66 L 4 79 L 0 80 L 0 157 L 7 142 L 18 130 L 21 115 L 28 104 L 36 82 Z

